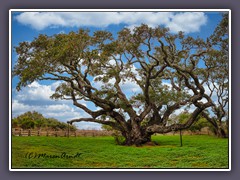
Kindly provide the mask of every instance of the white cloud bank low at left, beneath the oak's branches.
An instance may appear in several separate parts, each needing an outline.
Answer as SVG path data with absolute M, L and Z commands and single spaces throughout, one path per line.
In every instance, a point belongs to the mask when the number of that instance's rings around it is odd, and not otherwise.
M 27 111 L 37 111 L 44 117 L 55 118 L 63 122 L 71 119 L 86 118 L 89 115 L 83 110 L 72 105 L 71 101 L 54 101 L 50 99 L 54 89 L 60 84 L 56 81 L 49 85 L 33 82 L 29 86 L 23 88 L 20 92 L 13 92 L 12 98 L 12 116 L 16 117 Z M 87 102 L 80 101 L 81 104 L 87 106 Z M 76 123 L 79 128 L 100 129 L 101 125 L 89 122 Z

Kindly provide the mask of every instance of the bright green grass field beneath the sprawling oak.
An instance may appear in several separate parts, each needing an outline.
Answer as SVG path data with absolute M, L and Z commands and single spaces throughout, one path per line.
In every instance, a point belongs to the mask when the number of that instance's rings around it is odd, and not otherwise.
M 112 137 L 12 137 L 12 168 L 228 168 L 228 139 L 183 136 L 183 147 L 178 135 L 152 139 L 159 146 L 119 146 Z

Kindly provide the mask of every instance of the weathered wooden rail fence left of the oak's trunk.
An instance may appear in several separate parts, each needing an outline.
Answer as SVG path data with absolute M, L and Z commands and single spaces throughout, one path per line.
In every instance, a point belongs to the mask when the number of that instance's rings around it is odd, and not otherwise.
M 23 130 L 12 129 L 13 136 L 55 136 L 55 137 L 78 137 L 78 136 L 111 136 L 112 132 L 104 130 L 77 130 L 77 131 L 64 131 L 64 130 Z

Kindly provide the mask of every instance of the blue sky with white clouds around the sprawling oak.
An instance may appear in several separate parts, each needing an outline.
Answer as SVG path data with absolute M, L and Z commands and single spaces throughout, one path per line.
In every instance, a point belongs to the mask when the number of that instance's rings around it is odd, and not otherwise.
M 12 12 L 12 66 L 17 54 L 13 47 L 22 41 L 32 41 L 39 34 L 53 35 L 77 31 L 79 28 L 109 30 L 116 34 L 123 27 L 133 28 L 141 23 L 165 26 L 172 33 L 184 31 L 194 37 L 206 38 L 214 31 L 221 20 L 219 12 Z M 38 111 L 46 117 L 61 121 L 86 117 L 87 114 L 72 106 L 71 101 L 54 101 L 49 98 L 59 82 L 33 82 L 20 92 L 15 87 L 17 77 L 12 80 L 12 115 L 13 117 L 27 111 Z M 136 84 L 126 82 L 122 86 L 126 93 L 138 90 Z M 91 109 L 94 105 L 82 102 Z M 78 123 L 79 128 L 99 129 L 95 123 Z

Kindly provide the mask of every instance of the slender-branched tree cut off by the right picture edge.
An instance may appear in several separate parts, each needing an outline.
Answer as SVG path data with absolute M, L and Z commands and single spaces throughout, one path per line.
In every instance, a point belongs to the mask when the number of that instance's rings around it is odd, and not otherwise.
M 208 39 L 211 48 L 204 60 L 205 78 L 213 105 L 202 114 L 215 128 L 215 134 L 224 138 L 228 136 L 229 23 L 228 14 L 222 16 L 221 22 Z

